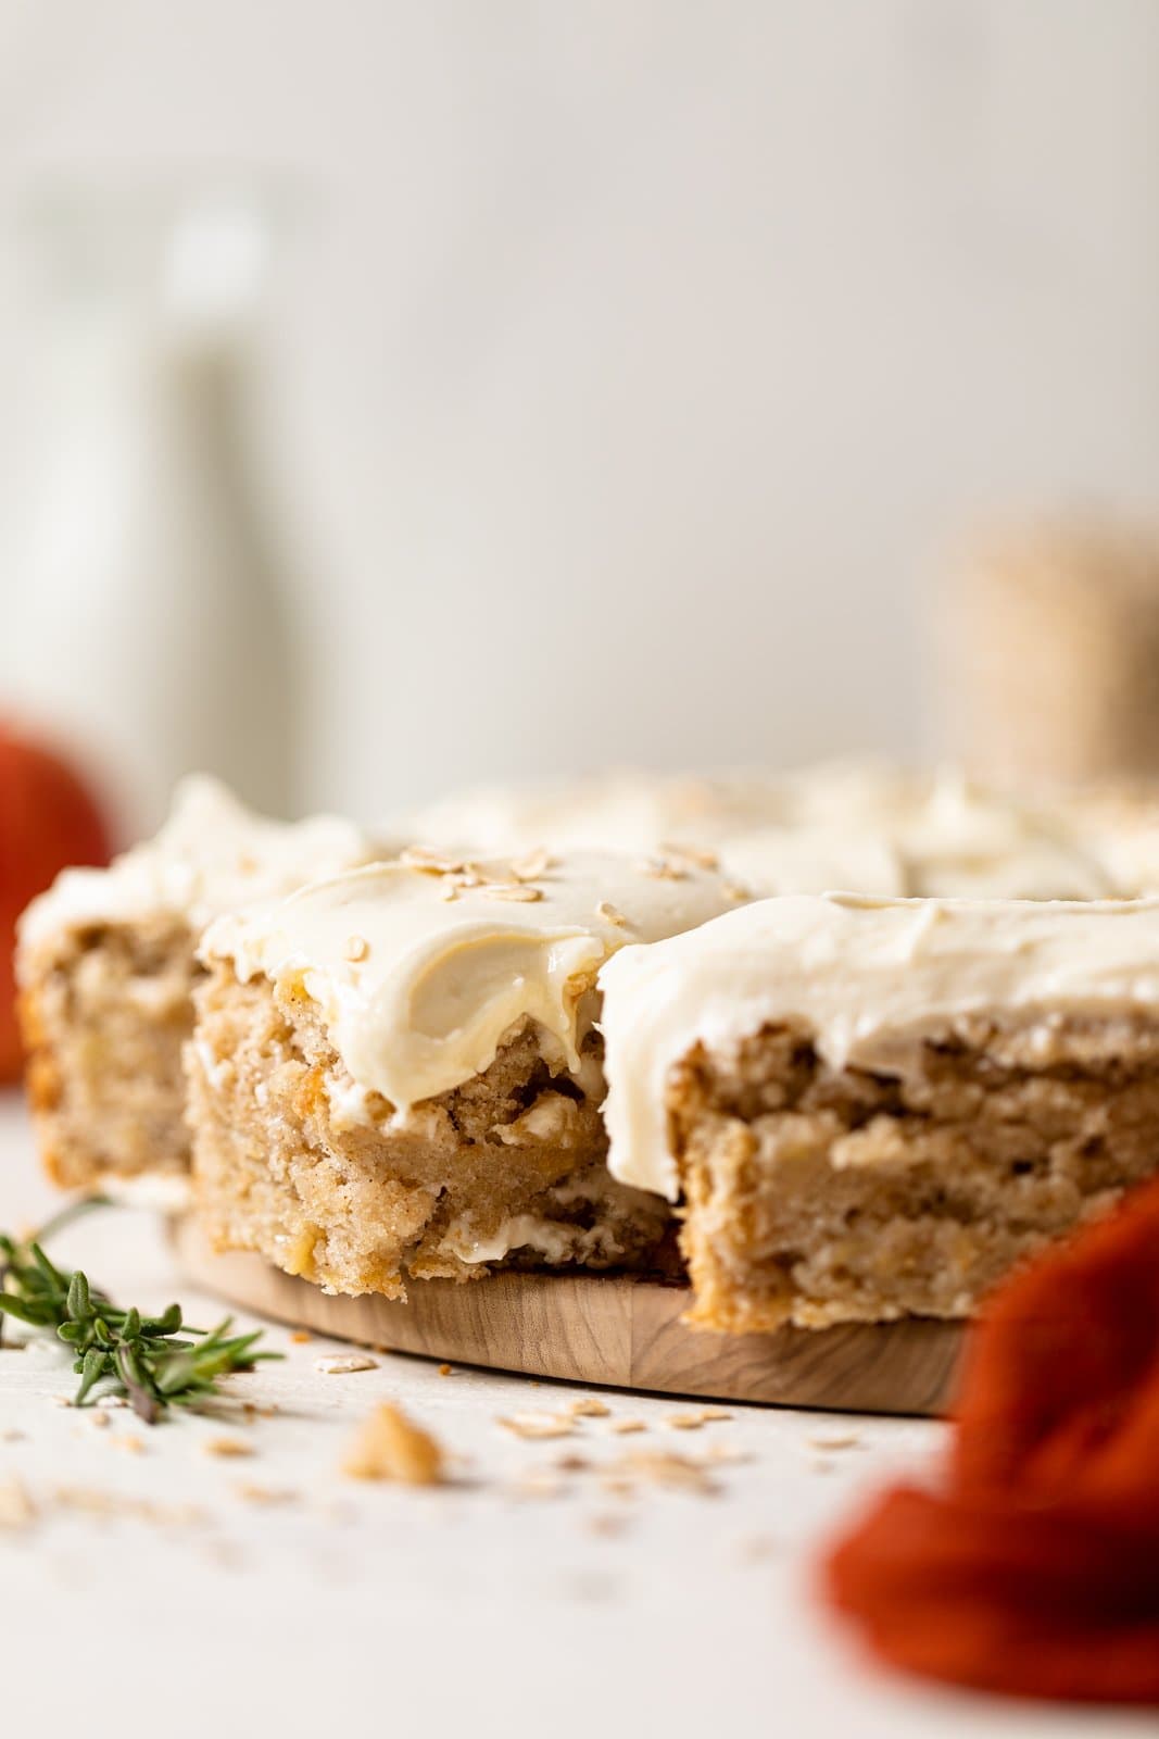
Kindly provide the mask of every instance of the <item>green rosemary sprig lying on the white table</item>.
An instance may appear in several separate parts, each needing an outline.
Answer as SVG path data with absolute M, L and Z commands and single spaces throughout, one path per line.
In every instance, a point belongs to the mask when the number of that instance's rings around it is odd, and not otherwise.
M 89 1196 L 57 1214 L 31 1238 L 0 1233 L 0 1332 L 12 1316 L 33 1329 L 54 1329 L 73 1348 L 73 1370 L 80 1377 L 73 1405 L 85 1407 L 103 1395 L 123 1395 L 146 1424 L 156 1424 L 170 1407 L 200 1407 L 221 1393 L 217 1379 L 235 1370 L 252 1370 L 280 1353 L 255 1353 L 261 1329 L 229 1334 L 226 1316 L 209 1332 L 182 1320 L 181 1304 L 160 1316 L 120 1309 L 80 1269 L 57 1268 L 43 1243 L 70 1221 L 94 1207 Z

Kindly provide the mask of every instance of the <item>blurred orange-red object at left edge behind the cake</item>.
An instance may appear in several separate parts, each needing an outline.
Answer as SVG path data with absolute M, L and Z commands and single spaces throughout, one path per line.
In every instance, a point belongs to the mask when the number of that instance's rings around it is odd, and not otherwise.
M 19 1078 L 12 951 L 16 920 L 68 864 L 106 864 L 104 817 L 80 776 L 0 723 L 0 1082 Z

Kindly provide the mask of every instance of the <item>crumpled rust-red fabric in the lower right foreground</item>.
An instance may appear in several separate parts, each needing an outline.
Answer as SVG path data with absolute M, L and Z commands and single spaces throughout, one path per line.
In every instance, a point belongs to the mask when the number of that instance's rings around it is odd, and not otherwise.
M 886 1492 L 825 1589 L 895 1666 L 1159 1702 L 1159 1183 L 996 1294 L 945 1478 Z

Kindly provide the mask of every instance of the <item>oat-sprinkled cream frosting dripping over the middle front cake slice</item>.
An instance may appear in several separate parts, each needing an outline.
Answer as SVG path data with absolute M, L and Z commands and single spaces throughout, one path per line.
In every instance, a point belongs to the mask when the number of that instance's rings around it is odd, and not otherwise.
M 737 897 L 692 859 L 408 852 L 219 918 L 202 958 L 301 988 L 354 1083 L 405 1113 L 487 1069 L 527 1017 L 553 1064 L 580 1073 L 603 962 Z

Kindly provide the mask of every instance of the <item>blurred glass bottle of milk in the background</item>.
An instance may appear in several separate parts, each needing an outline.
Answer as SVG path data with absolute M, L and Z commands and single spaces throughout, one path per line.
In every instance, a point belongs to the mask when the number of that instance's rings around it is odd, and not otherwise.
M 273 212 L 63 191 L 26 238 L 43 343 L 0 704 L 87 755 L 127 833 L 193 769 L 288 814 L 295 636 L 245 438 Z

